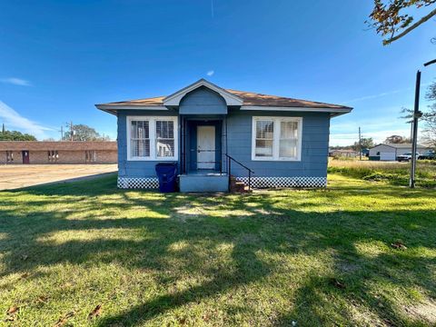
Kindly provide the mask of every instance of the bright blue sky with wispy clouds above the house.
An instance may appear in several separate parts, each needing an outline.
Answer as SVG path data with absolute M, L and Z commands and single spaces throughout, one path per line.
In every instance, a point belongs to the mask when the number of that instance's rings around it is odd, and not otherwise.
M 371 9 L 370 0 L 4 0 L 0 123 L 57 139 L 73 121 L 115 138 L 115 117 L 94 104 L 172 94 L 203 77 L 353 106 L 332 120 L 332 145 L 352 144 L 359 126 L 378 142 L 408 135 L 399 112 L 413 104 L 416 70 L 436 57 L 434 22 L 383 46 L 364 24 Z M 422 84 L 434 77 L 436 65 Z

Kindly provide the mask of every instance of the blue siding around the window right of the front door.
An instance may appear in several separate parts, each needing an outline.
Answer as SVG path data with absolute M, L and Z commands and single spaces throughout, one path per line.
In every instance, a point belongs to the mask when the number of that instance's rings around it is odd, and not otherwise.
M 302 160 L 253 161 L 252 121 L 253 116 L 302 117 Z M 259 111 L 231 111 L 227 117 L 228 154 L 250 167 L 254 176 L 313 176 L 327 175 L 329 151 L 330 115 L 323 113 L 277 113 Z M 246 176 L 246 171 L 232 165 L 232 174 Z

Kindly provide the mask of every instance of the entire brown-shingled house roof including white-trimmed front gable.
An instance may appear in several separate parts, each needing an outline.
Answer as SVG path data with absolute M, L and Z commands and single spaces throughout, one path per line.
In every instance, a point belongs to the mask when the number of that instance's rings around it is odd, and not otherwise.
M 204 79 L 190 84 L 180 91 L 168 96 L 157 96 L 152 98 L 127 100 L 121 102 L 95 104 L 98 109 L 112 111 L 118 109 L 152 109 L 166 110 L 168 106 L 177 106 L 180 104 L 185 94 L 192 92 L 198 87 L 207 87 L 214 92 L 222 95 L 227 105 L 241 106 L 245 110 L 286 110 L 290 109 L 313 109 L 313 112 L 325 111 L 338 114 L 345 114 L 352 111 L 352 107 L 340 104 L 326 104 L 309 100 L 295 99 L 278 95 L 258 94 L 247 91 L 237 91 L 232 89 L 223 89 Z M 322 110 L 316 110 L 322 109 Z

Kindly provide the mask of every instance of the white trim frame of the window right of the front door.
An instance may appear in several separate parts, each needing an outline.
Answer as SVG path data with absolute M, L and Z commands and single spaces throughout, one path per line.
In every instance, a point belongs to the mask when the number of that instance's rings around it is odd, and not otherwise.
M 272 140 L 272 157 L 256 157 L 256 122 L 263 120 L 272 120 L 274 122 L 273 140 Z M 286 158 L 279 157 L 280 149 L 280 122 L 297 122 L 298 123 L 298 142 L 297 157 Z M 252 120 L 252 160 L 253 161 L 285 161 L 299 162 L 302 161 L 302 117 L 276 117 L 276 116 L 253 116 Z

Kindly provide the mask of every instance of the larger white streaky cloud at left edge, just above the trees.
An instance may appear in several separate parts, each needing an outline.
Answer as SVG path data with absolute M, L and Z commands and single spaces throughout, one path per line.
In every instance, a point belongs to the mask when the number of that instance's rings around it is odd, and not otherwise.
M 48 131 L 55 131 L 53 128 L 45 127 L 23 117 L 2 101 L 0 101 L 0 119 L 3 120 L 7 129 L 14 129 L 24 133 L 32 134 L 38 139 L 46 138 L 46 132 Z

